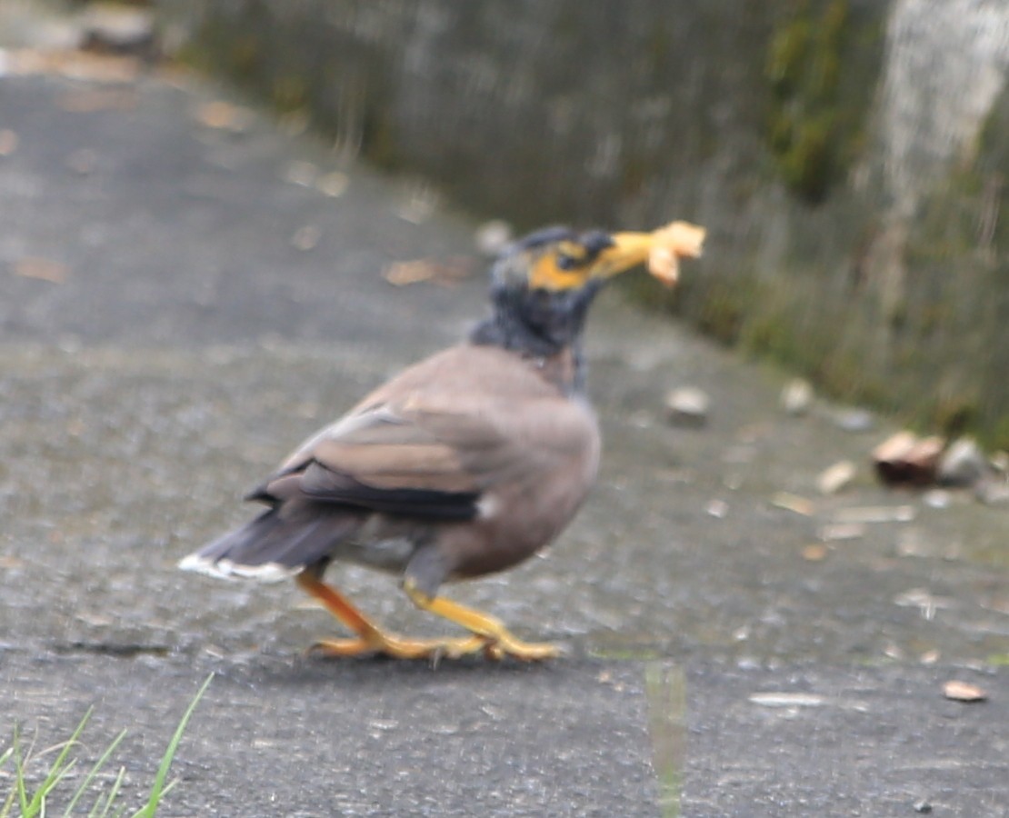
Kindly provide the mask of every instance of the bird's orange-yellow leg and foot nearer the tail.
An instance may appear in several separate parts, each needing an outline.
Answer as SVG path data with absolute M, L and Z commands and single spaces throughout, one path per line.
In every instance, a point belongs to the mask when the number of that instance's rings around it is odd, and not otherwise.
M 318 599 L 323 606 L 356 633 L 349 639 L 323 639 L 310 649 L 330 657 L 384 654 L 395 659 L 458 659 L 486 647 L 486 639 L 477 635 L 442 639 L 406 639 L 385 633 L 350 603 L 339 591 L 307 572 L 298 575 L 299 586 Z

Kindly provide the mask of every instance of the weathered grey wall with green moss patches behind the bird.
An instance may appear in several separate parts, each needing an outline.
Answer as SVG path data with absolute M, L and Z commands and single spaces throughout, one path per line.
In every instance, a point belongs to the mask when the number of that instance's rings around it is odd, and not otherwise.
M 915 87 L 915 37 L 940 43 L 983 0 L 160 4 L 193 60 L 475 212 L 704 224 L 669 309 L 843 397 L 1009 446 L 1009 98 L 984 97 L 956 149 L 914 121 L 936 85 Z M 1009 41 L 984 47 L 1009 73 Z

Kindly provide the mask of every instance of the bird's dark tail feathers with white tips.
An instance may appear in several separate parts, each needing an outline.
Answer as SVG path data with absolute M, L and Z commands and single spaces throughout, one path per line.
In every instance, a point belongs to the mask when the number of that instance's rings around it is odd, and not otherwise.
M 190 554 L 179 567 L 215 577 L 276 581 L 324 560 L 359 524 L 343 509 L 327 513 L 316 506 L 299 514 L 278 505 Z

